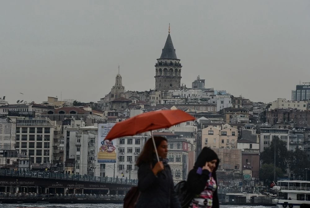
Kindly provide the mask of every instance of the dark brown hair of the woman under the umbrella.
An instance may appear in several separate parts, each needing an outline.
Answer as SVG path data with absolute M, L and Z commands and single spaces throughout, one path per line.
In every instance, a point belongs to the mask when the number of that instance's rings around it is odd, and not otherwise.
M 162 141 L 167 141 L 165 137 L 154 137 L 156 149 L 162 143 Z M 149 138 L 148 141 L 145 143 L 143 150 L 136 162 L 137 166 L 140 166 L 142 163 L 151 163 L 153 160 L 154 154 L 154 145 L 152 138 Z

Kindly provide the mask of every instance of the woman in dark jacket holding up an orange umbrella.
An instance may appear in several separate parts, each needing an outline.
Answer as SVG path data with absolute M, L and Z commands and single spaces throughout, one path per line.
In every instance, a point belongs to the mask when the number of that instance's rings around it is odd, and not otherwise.
M 136 162 L 139 167 L 140 191 L 136 208 L 180 208 L 174 191 L 171 169 L 167 163 L 167 140 L 164 137 L 154 137 L 154 141 L 159 161 L 157 161 L 153 141 L 149 139 Z

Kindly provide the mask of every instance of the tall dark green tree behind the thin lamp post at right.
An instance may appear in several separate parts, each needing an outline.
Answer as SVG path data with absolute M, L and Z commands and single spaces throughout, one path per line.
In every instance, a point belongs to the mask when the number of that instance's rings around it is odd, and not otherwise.
M 279 137 L 273 137 L 270 146 L 267 147 L 261 154 L 260 160 L 262 164 L 274 165 L 274 154 L 276 153 L 276 167 L 281 168 L 283 173 L 286 173 L 288 167 L 289 155 L 287 152 L 286 143 L 281 141 Z M 272 170 L 272 174 L 273 174 Z M 273 178 L 273 177 L 272 177 Z

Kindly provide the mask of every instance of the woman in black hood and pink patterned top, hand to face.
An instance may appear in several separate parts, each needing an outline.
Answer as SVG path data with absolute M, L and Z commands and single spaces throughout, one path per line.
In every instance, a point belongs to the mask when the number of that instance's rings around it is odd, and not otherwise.
M 217 154 L 204 147 L 199 154 L 193 170 L 188 173 L 186 186 L 194 194 L 191 208 L 218 208 L 216 169 L 219 166 Z

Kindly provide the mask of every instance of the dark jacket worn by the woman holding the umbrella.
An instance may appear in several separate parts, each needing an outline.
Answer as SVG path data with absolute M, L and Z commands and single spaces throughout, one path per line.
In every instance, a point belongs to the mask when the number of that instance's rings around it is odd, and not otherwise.
M 154 161 L 152 167 L 155 164 Z M 140 196 L 136 208 L 180 208 L 168 164 L 165 164 L 165 170 L 157 173 L 156 176 L 151 170 L 151 164 L 140 165 L 138 188 Z

